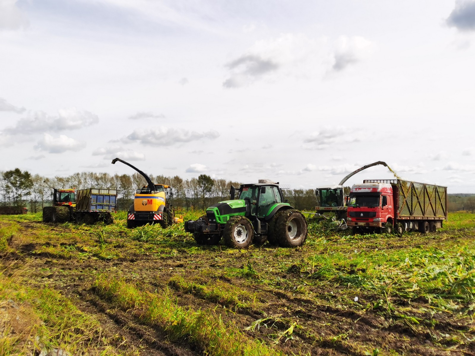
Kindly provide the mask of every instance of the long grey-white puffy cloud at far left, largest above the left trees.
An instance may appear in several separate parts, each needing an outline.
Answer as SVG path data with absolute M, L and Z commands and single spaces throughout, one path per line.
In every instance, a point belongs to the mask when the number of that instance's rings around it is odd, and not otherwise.
M 28 134 L 44 131 L 76 130 L 99 122 L 97 115 L 88 111 L 79 111 L 75 107 L 58 110 L 57 117 L 47 116 L 45 112 L 29 113 L 13 127 L 4 132 L 11 134 Z

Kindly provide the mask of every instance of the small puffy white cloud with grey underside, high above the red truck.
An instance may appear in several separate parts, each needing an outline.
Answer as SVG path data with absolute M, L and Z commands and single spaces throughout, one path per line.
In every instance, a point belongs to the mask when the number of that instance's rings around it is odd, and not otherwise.
M 370 54 L 371 41 L 360 36 L 340 36 L 333 52 L 332 70 L 340 72 L 347 66 L 358 63 Z

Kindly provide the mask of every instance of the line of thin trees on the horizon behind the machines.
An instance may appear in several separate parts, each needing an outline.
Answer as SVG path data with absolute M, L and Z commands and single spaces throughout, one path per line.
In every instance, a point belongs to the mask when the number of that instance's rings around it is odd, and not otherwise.
M 239 187 L 240 182 L 211 178 L 200 174 L 197 178 L 183 179 L 180 176 L 152 175 L 149 177 L 156 184 L 172 187 L 172 204 L 178 209 L 205 209 L 222 200 L 230 198 L 231 185 Z M 137 189 L 147 185 L 139 173 L 114 174 L 95 172 L 76 172 L 70 176 L 48 178 L 28 171 L 12 169 L 0 172 L 0 205 L 26 206 L 32 212 L 41 211 L 51 205 L 53 188 L 117 189 L 117 209 L 128 210 L 133 204 Z M 316 197 L 313 189 L 284 189 L 285 198 L 300 210 L 313 211 Z M 312 209 L 312 210 L 310 210 Z

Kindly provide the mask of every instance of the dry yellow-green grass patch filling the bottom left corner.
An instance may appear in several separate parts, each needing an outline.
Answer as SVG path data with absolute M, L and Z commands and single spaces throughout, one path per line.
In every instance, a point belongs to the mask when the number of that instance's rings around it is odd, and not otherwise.
M 117 355 L 100 338 L 95 317 L 79 311 L 59 291 L 14 283 L 0 273 L 0 300 L 13 307 L 0 334 L 0 355 L 30 355 L 33 349 L 63 349 L 74 355 Z M 15 318 L 16 316 L 16 318 Z M 15 320 L 21 321 L 12 331 Z

